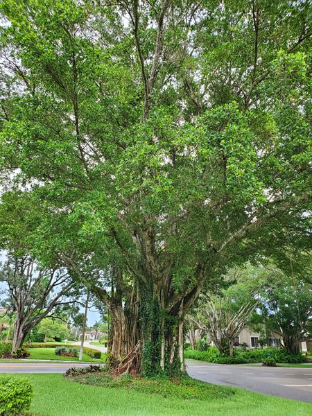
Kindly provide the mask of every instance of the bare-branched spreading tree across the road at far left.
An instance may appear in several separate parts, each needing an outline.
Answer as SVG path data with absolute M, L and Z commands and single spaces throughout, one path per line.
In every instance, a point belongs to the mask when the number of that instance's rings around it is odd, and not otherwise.
M 3 306 L 15 311 L 12 350 L 20 348 L 26 335 L 61 304 L 75 302 L 75 282 L 67 270 L 40 268 L 30 257 L 8 255 L 0 270 L 6 282 Z

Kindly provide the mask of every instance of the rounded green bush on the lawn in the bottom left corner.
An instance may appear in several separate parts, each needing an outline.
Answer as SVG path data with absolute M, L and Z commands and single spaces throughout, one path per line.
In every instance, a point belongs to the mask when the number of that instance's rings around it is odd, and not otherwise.
M 0 379 L 0 415 L 15 415 L 28 410 L 33 398 L 33 386 L 27 379 Z

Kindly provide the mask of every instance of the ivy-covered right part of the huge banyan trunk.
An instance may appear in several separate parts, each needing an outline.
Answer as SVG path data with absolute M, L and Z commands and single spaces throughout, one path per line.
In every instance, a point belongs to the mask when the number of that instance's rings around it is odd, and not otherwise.
M 155 281 L 156 279 L 154 279 Z M 140 291 L 139 317 L 142 322 L 142 373 L 175 375 L 185 371 L 184 317 L 200 291 L 200 285 L 176 293 L 171 279 L 164 276 L 158 284 Z

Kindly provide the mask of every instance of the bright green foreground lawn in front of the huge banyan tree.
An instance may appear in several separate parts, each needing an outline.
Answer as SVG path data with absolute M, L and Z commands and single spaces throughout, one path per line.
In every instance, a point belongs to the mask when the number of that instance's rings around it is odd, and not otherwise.
M 15 374 L 20 377 L 21 374 Z M 34 388 L 29 412 L 36 416 L 309 416 L 312 404 L 229 388 L 223 399 L 174 397 L 82 385 L 61 374 L 27 374 Z M 160 382 L 160 381 L 159 381 Z

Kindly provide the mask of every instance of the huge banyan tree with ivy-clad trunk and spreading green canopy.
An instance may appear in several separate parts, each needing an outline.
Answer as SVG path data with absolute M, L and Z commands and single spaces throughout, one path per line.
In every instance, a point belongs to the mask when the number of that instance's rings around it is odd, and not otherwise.
M 3 165 L 50 207 L 35 246 L 106 302 L 117 357 L 173 371 L 202 288 L 309 219 L 311 4 L 1 12 Z

